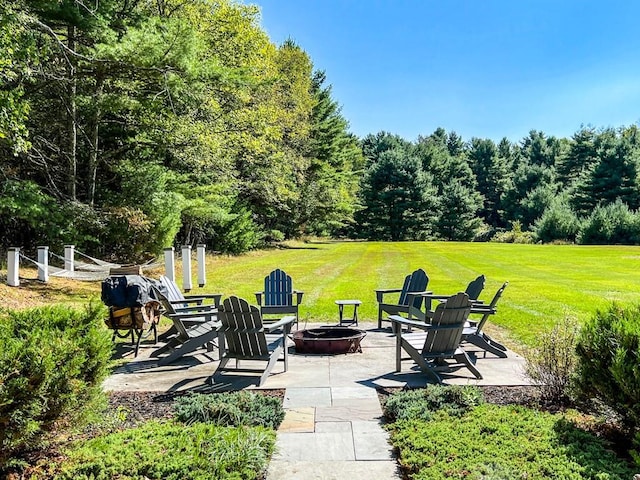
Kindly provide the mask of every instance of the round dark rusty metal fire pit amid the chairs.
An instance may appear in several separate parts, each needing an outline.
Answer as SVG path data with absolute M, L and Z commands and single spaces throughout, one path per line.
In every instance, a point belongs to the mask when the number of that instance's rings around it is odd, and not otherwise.
M 338 354 L 362 352 L 367 332 L 348 327 L 319 327 L 293 332 L 297 353 Z

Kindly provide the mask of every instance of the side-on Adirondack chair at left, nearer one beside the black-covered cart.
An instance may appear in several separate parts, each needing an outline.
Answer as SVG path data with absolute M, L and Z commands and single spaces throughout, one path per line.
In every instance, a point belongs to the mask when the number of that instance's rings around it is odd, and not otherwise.
M 152 357 L 160 358 L 159 365 L 167 365 L 201 347 L 207 351 L 214 348 L 214 340 L 218 337 L 220 322 L 217 321 L 218 309 L 213 305 L 197 305 L 194 307 L 177 308 L 162 293 L 156 290 L 155 296 L 163 307 L 163 315 L 171 320 L 172 328 L 176 332 L 168 338 L 165 345 L 151 353 Z M 219 353 L 222 344 L 218 342 Z

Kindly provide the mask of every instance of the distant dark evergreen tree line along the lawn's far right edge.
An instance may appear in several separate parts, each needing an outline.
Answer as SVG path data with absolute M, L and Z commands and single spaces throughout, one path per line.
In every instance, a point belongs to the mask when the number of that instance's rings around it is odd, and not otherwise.
M 640 132 L 582 127 L 571 138 L 532 130 L 499 143 L 437 129 L 409 142 L 362 140 L 356 212 L 381 240 L 640 243 Z

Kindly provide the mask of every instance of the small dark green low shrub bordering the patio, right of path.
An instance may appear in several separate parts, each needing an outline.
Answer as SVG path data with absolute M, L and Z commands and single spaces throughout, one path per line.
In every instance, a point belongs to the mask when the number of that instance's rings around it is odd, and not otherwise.
M 482 402 L 482 392 L 474 386 L 431 385 L 394 393 L 385 403 L 384 413 L 391 421 L 424 421 L 431 419 L 438 410 L 459 416 Z

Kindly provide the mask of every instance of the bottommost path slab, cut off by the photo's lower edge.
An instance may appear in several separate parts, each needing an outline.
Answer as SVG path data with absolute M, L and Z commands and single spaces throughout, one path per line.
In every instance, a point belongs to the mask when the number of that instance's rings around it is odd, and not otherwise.
M 267 480 L 396 480 L 396 462 L 288 462 L 272 460 Z

